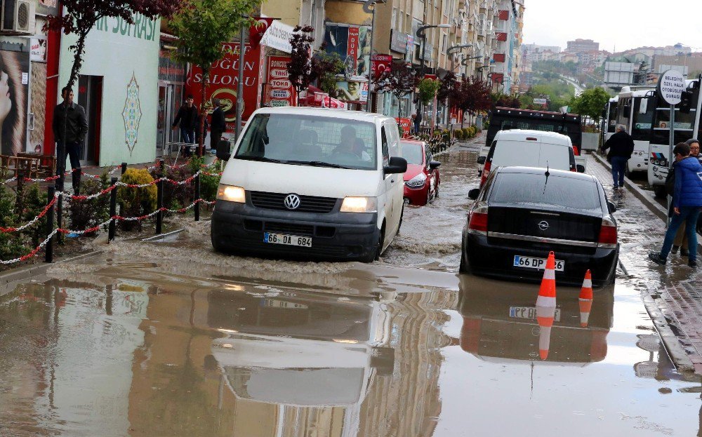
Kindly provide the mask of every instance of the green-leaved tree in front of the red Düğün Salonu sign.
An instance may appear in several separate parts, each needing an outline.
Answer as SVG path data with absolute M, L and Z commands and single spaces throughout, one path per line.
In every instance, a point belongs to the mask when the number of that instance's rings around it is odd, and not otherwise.
M 242 26 L 251 23 L 251 18 L 246 15 L 259 4 L 260 0 L 192 0 L 173 15 L 169 27 L 178 37 L 173 58 L 202 69 L 200 111 L 205 111 L 205 88 L 211 67 L 225 55 L 223 43 L 232 41 Z M 201 156 L 205 137 L 204 116 L 200 119 L 199 129 L 198 154 Z

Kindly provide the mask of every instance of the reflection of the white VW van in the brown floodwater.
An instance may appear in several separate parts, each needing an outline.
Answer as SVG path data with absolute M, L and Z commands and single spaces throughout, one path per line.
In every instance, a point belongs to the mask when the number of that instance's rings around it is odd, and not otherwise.
M 241 399 L 355 411 L 373 377 L 392 375 L 390 318 L 376 300 L 291 292 L 208 295 L 211 350 Z

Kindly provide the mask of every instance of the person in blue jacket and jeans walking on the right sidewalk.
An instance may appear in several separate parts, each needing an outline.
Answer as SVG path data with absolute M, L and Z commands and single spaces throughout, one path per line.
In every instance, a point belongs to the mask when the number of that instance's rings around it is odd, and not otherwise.
M 673 217 L 665 232 L 660 253 L 649 253 L 649 259 L 665 265 L 668 253 L 673 248 L 677 229 L 683 222 L 687 224 L 686 234 L 689 248 L 688 265 L 697 267 L 697 233 L 695 226 L 702 208 L 702 164 L 690 156 L 690 147 L 681 142 L 673 149 L 675 155 L 675 189 L 673 192 Z

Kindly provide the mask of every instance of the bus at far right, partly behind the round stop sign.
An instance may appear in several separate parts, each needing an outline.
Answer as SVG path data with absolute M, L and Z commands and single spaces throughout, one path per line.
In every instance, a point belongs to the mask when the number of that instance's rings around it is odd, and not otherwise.
M 690 138 L 702 136 L 700 114 L 702 113 L 702 99 L 700 98 L 700 77 L 685 81 L 689 92 L 689 107 L 682 108 L 679 103 L 675 105 L 675 127 L 673 144 L 685 142 Z M 648 170 L 648 182 L 658 197 L 665 197 L 665 177 L 668 176 L 668 154 L 670 153 L 670 106 L 654 93 L 654 116 L 651 121 L 649 157 L 651 159 Z

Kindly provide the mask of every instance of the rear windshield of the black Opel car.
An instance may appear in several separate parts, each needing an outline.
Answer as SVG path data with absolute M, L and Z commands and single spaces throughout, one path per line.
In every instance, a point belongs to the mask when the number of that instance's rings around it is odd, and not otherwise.
M 544 173 L 500 173 L 490 201 L 515 206 L 534 205 L 568 210 L 601 211 L 597 184 L 574 177 L 545 176 Z

